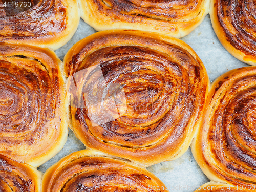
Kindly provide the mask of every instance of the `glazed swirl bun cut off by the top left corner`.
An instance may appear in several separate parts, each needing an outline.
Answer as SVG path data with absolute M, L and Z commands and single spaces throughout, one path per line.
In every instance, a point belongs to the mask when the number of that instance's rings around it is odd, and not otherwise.
M 55 50 L 70 40 L 79 18 L 76 0 L 0 0 L 0 41 Z

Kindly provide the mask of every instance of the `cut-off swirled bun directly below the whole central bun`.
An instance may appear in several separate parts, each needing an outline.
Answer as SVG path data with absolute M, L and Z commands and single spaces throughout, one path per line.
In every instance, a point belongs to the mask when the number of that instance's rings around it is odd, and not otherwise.
M 82 150 L 61 159 L 46 171 L 42 179 L 42 192 L 52 191 L 168 190 L 145 168 L 91 150 Z

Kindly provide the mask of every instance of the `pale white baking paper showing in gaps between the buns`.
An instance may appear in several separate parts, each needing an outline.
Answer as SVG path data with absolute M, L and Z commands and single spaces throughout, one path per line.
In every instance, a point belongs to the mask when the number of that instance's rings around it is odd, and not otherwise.
M 92 27 L 80 19 L 80 24 L 75 35 L 65 46 L 56 50 L 56 54 L 63 61 L 63 57 L 67 51 L 77 41 L 95 32 L 96 31 Z M 234 58 L 221 45 L 211 27 L 209 15 L 205 17 L 199 27 L 181 39 L 190 45 L 201 58 L 211 82 L 229 70 L 248 66 Z M 86 147 L 84 147 L 84 145 L 75 137 L 74 133 L 69 130 L 68 140 L 63 149 L 51 160 L 41 165 L 38 170 L 44 173 L 51 165 L 56 163 L 62 157 L 75 151 L 83 150 L 84 148 Z M 190 148 L 179 159 L 147 167 L 147 170 L 161 179 L 169 191 L 193 192 L 202 184 L 209 181 L 197 165 Z

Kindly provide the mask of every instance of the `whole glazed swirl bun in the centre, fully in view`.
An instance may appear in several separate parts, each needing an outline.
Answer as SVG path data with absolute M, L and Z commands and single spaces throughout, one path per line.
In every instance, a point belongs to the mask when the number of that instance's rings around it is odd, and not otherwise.
M 65 71 L 70 124 L 87 147 L 145 166 L 176 159 L 189 147 L 208 76 L 183 41 L 141 31 L 98 32 L 69 50 Z

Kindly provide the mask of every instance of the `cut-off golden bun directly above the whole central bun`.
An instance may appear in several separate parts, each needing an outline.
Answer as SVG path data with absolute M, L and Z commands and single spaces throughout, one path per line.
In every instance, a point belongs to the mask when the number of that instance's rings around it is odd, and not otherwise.
M 176 38 L 193 31 L 208 14 L 209 0 L 80 0 L 83 20 L 97 31 L 134 29 Z

